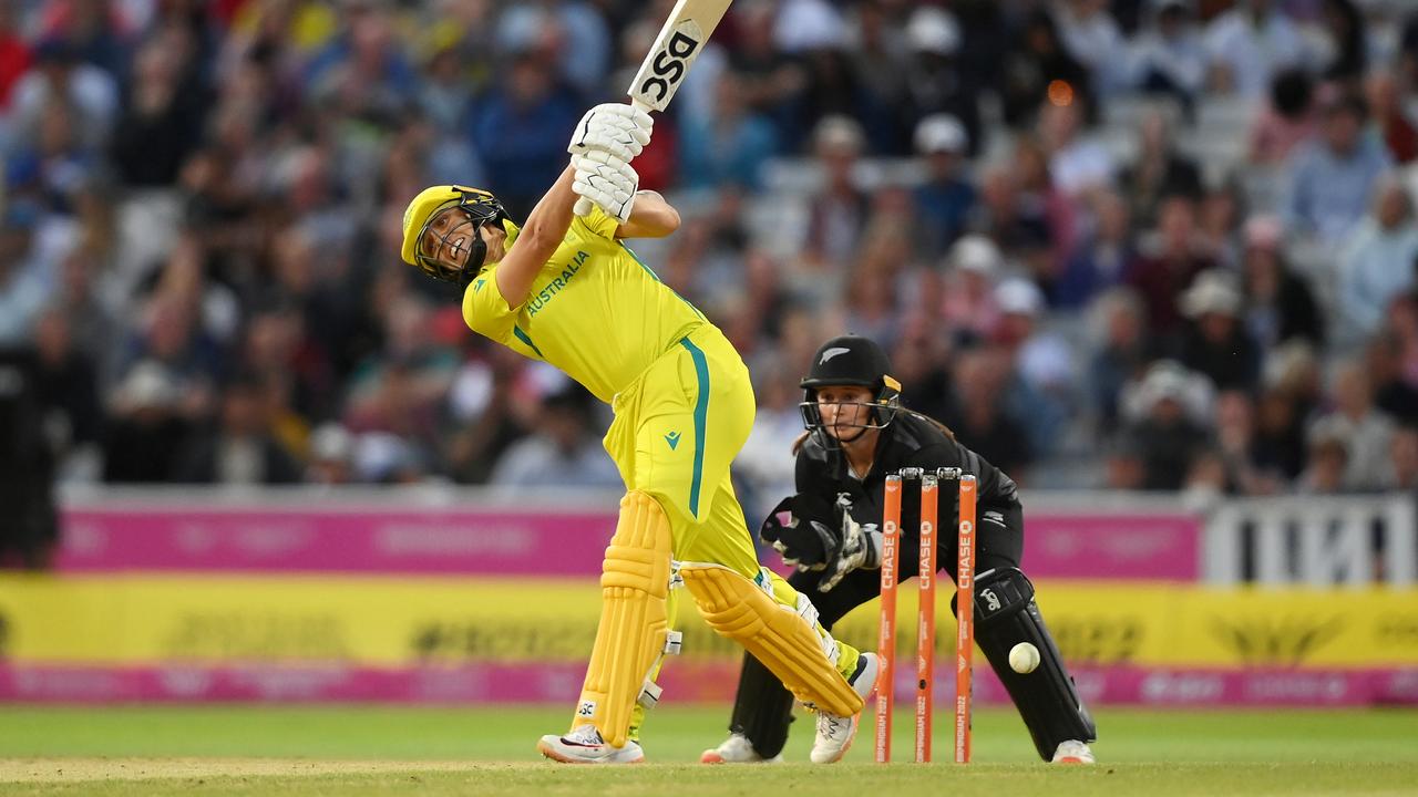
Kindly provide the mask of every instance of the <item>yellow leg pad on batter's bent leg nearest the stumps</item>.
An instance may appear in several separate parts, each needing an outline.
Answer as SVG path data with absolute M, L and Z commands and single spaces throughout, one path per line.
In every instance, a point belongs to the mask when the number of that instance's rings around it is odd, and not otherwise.
M 825 650 L 837 650 L 830 634 L 727 567 L 683 562 L 679 574 L 705 623 L 743 645 L 798 701 L 838 716 L 862 710 L 862 698 Z

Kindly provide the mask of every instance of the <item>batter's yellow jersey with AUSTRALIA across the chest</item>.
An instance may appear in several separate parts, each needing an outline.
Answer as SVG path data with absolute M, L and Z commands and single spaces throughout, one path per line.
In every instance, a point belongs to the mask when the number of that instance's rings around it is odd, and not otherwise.
M 462 295 L 464 321 L 610 403 L 681 338 L 709 323 L 615 240 L 618 224 L 598 207 L 573 217 L 518 308 L 498 291 L 498 265 L 484 268 Z

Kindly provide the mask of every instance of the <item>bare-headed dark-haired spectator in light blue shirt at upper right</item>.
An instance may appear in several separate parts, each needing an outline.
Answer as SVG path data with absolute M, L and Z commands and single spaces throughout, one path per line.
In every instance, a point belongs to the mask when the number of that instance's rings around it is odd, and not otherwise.
M 1330 101 L 1320 119 L 1317 138 L 1296 149 L 1288 165 L 1286 214 L 1295 233 L 1333 247 L 1364 216 L 1392 157 L 1364 135 L 1368 106 L 1357 95 Z

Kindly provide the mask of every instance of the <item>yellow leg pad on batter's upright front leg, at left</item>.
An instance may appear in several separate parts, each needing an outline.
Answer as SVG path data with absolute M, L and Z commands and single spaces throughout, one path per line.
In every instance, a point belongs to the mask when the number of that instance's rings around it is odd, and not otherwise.
M 666 652 L 669 543 L 659 503 L 645 492 L 625 494 L 601 566 L 601 623 L 571 720 L 573 729 L 594 725 L 613 747 L 625 745 L 635 701 Z

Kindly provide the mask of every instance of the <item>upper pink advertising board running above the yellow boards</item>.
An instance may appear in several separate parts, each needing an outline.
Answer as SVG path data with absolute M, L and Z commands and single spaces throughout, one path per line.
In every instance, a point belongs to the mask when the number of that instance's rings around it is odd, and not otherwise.
M 89 503 L 64 511 L 58 567 L 590 576 L 614 506 Z M 1193 581 L 1200 536 L 1200 519 L 1183 512 L 1034 511 L 1024 566 L 1044 579 Z

